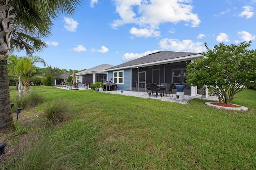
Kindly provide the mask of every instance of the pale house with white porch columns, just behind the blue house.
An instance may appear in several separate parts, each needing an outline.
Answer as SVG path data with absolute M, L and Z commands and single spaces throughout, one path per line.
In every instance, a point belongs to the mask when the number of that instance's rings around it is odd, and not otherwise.
M 108 80 L 108 73 L 104 70 L 113 67 L 114 65 L 102 64 L 87 70 L 76 73 L 76 82 L 85 83 L 94 83 L 94 82 L 104 82 Z

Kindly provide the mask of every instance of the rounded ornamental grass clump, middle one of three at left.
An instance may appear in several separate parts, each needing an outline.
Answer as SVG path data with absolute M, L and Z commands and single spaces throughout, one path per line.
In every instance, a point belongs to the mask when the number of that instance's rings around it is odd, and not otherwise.
M 42 109 L 44 117 L 53 124 L 70 119 L 72 114 L 69 103 L 61 98 L 44 103 Z

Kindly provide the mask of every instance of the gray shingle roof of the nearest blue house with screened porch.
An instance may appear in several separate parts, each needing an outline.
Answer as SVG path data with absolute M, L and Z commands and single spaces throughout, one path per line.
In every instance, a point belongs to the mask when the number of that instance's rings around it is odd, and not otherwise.
M 107 70 L 112 70 L 115 68 L 122 68 L 122 67 L 128 67 L 128 66 L 135 66 L 139 64 L 146 64 L 146 63 L 153 63 L 153 62 L 163 62 L 165 60 L 180 58 L 180 57 L 186 57 L 190 55 L 198 55 L 201 53 L 187 53 L 187 52 L 174 52 L 174 51 L 158 51 L 156 53 L 152 53 L 149 55 L 146 55 L 144 57 L 140 57 L 138 59 L 134 59 L 132 61 L 128 61 L 123 64 L 119 64 L 117 66 L 108 68 Z

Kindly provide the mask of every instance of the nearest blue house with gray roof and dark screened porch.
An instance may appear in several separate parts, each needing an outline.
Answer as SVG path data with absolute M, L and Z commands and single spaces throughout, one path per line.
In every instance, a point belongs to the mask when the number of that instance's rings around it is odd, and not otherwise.
M 186 66 L 198 58 L 204 56 L 201 53 L 158 51 L 105 71 L 108 72 L 108 80 L 116 83 L 118 90 L 146 92 L 147 83 L 174 83 L 186 85 L 185 95 L 196 96 L 197 87 L 186 82 Z M 176 88 L 173 93 L 176 93 Z

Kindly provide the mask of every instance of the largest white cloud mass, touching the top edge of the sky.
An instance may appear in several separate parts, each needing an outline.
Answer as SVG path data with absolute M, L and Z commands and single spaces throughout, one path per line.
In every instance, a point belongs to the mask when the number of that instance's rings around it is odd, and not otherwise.
M 197 14 L 192 12 L 193 6 L 191 0 L 114 0 L 116 13 L 120 19 L 114 20 L 111 23 L 112 28 L 116 29 L 127 23 L 138 24 L 136 36 L 158 35 L 155 29 L 158 29 L 161 23 L 178 23 L 184 21 L 192 27 L 197 27 L 200 24 L 200 19 Z M 145 34 L 147 29 L 151 31 Z M 159 32 L 160 33 L 160 32 Z

